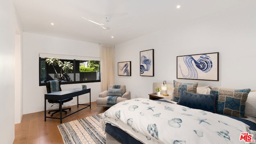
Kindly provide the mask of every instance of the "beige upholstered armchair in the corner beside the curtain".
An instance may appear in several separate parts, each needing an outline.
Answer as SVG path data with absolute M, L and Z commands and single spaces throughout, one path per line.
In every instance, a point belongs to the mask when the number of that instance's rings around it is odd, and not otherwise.
M 113 90 L 113 86 L 115 86 L 115 85 L 109 85 L 108 90 L 105 90 L 104 92 L 101 92 L 99 94 L 99 98 L 97 98 L 97 100 L 96 100 L 97 106 L 102 106 L 102 109 L 104 107 L 111 107 L 112 106 L 108 102 L 109 102 L 109 97 L 111 95 L 110 91 Z M 122 94 L 120 94 L 120 96 L 118 96 L 116 98 L 116 104 L 118 102 L 122 102 L 124 100 L 130 100 L 131 99 L 131 93 L 130 93 L 130 91 L 126 91 L 126 86 L 125 85 L 121 85 L 120 89 L 122 89 Z

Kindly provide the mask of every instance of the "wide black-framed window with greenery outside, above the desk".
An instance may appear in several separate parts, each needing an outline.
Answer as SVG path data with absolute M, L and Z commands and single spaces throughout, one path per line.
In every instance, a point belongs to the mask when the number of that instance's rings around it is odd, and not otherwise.
M 100 61 L 39 57 L 39 86 L 49 80 L 60 80 L 61 84 L 100 82 Z

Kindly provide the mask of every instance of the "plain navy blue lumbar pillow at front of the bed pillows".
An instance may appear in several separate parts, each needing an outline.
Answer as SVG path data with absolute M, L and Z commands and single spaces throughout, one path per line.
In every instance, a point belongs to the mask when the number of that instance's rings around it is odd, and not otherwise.
M 177 104 L 216 113 L 216 94 L 194 94 L 182 90 Z

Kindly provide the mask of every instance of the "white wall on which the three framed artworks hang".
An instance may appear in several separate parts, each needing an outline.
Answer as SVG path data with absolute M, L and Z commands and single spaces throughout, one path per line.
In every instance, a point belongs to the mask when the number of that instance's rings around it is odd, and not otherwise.
M 250 1 L 186 24 L 115 46 L 115 84 L 131 98 L 148 98 L 153 82 L 176 79 L 176 56 L 220 52 L 219 81 L 183 80 L 199 85 L 256 90 L 256 2 Z M 154 77 L 140 76 L 140 51 L 154 49 Z M 118 76 L 117 63 L 132 61 L 132 76 Z

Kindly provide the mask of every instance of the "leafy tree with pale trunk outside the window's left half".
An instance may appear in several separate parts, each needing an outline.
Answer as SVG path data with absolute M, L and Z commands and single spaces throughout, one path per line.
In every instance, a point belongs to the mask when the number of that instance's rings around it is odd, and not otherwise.
M 64 63 L 60 60 L 60 58 L 46 58 L 45 60 L 47 64 L 54 68 L 55 74 L 54 77 L 58 78 L 58 80 L 64 80 L 64 81 L 70 81 L 70 76 L 68 73 L 72 72 L 73 70 L 73 64 L 67 61 L 64 61 Z M 60 67 L 60 75 L 58 74 L 57 70 L 55 69 L 55 66 Z

